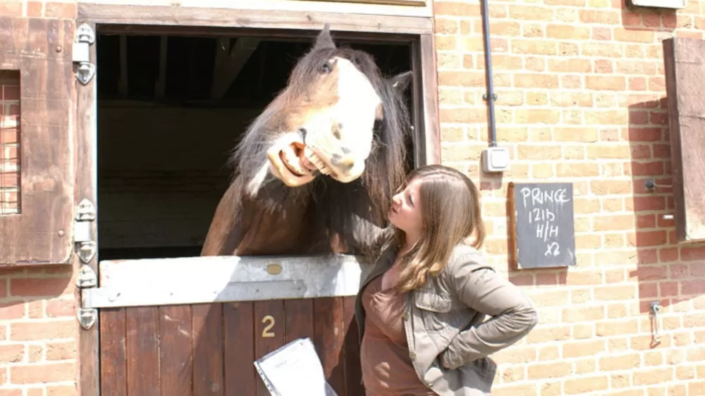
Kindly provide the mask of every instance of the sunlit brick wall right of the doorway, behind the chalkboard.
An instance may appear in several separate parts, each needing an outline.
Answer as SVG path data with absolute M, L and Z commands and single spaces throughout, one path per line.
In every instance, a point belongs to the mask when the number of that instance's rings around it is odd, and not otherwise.
M 478 1 L 436 0 L 443 162 L 482 185 L 485 250 L 507 270 L 509 181 L 574 183 L 577 267 L 509 271 L 540 324 L 496 355 L 493 395 L 705 395 L 705 247 L 675 242 L 661 40 L 704 37 L 705 2 L 630 11 L 619 0 L 491 1 L 502 178 L 486 147 Z M 649 303 L 663 306 L 651 346 Z

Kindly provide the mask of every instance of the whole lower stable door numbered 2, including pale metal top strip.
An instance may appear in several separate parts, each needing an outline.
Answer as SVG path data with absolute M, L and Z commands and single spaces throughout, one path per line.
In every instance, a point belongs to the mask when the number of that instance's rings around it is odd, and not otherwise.
M 101 307 L 100 394 L 266 396 L 255 359 L 311 338 L 338 395 L 364 395 L 353 317 L 363 273 L 353 257 L 336 259 L 102 262 L 101 287 L 90 290 Z M 276 298 L 297 293 L 342 296 Z M 248 294 L 276 299 L 241 301 Z M 189 299 L 216 302 L 163 303 Z

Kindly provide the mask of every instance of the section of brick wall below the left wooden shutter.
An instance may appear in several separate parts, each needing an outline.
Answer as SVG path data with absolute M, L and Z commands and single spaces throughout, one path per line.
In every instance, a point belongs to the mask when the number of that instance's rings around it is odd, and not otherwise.
M 0 269 L 0 396 L 78 395 L 71 268 Z

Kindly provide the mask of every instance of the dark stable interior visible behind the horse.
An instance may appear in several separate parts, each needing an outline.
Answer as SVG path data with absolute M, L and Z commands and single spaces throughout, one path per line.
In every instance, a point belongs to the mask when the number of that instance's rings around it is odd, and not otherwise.
M 237 52 L 231 50 L 237 40 L 97 36 L 100 260 L 200 254 L 240 133 L 285 87 L 313 42 L 259 39 L 252 50 L 250 39 L 250 51 Z M 411 70 L 410 44 L 336 44 L 369 52 L 387 77 Z M 217 51 L 235 53 L 240 63 L 246 58 L 234 80 L 221 77 L 221 86 L 214 85 Z M 410 140 L 409 168 L 413 152 Z

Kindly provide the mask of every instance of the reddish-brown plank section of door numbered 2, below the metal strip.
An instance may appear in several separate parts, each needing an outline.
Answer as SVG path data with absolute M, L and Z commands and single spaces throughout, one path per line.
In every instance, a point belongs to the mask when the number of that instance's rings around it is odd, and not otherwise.
M 101 309 L 101 395 L 266 396 L 252 362 L 302 337 L 338 395 L 364 395 L 354 298 Z

